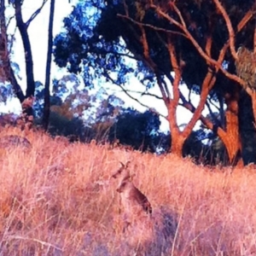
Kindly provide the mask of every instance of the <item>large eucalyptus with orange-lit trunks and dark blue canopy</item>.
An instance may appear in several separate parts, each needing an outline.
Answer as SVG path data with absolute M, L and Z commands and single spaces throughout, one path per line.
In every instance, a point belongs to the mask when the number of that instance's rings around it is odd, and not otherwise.
M 80 1 L 64 20 L 66 32 L 55 38 L 55 61 L 70 72 L 82 72 L 85 84 L 103 77 L 126 94 L 124 84 L 131 75 L 145 85 L 143 95 L 158 86 L 168 110 L 172 152 L 182 154 L 183 143 L 201 119 L 221 138 L 233 162 L 243 149 L 241 96 L 247 93 L 253 99 L 252 86 L 241 72 L 236 74 L 235 64 L 244 60 L 236 51 L 242 44 L 255 52 L 254 19 L 253 0 Z M 180 86 L 197 91 L 198 106 L 183 96 Z M 219 118 L 210 102 L 219 103 Z M 177 125 L 178 105 L 193 113 L 183 131 Z M 205 107 L 212 119 L 202 115 Z

